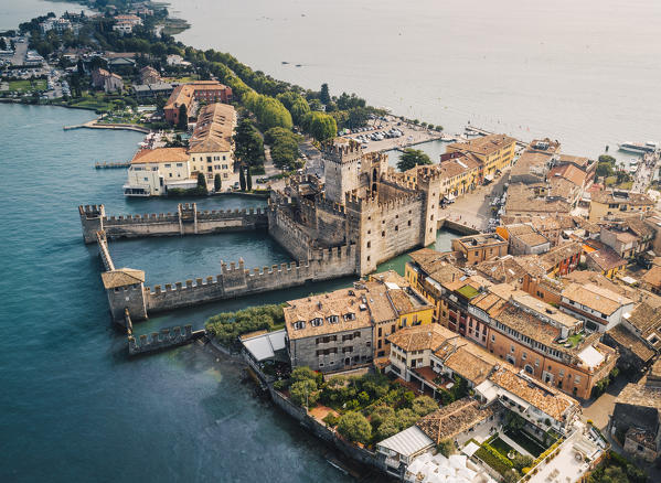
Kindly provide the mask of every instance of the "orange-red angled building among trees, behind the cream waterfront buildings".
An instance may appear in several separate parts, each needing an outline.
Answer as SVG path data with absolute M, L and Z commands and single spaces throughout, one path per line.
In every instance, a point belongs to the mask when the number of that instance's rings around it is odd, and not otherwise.
M 199 101 L 228 104 L 231 100 L 231 87 L 216 80 L 196 80 L 175 87 L 163 107 L 163 112 L 168 122 L 178 125 L 182 106 L 186 116 L 191 117 L 196 110 L 196 103 Z

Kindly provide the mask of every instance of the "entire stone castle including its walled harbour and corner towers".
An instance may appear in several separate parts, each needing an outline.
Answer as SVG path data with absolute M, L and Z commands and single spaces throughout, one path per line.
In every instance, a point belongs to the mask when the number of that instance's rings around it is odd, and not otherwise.
M 352 141 L 335 140 L 322 151 L 326 185 L 295 175 L 271 193 L 267 210 L 198 212 L 179 205 L 173 214 L 106 216 L 103 205 L 79 206 L 85 243 L 97 243 L 110 313 L 125 323 L 148 313 L 260 293 L 317 280 L 363 276 L 399 254 L 436 240 L 440 178 L 422 168 L 415 182 L 402 181 L 387 157 L 364 153 Z M 145 287 L 145 272 L 116 269 L 108 239 L 181 236 L 267 228 L 298 262 L 248 269 L 222 264 L 214 277 Z

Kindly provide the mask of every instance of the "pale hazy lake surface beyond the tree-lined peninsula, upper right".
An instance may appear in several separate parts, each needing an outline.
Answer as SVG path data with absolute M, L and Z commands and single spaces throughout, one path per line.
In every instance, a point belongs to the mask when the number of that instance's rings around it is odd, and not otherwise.
M 170 3 L 192 24 L 178 36 L 186 44 L 452 133 L 470 120 L 590 155 L 661 141 L 658 0 Z

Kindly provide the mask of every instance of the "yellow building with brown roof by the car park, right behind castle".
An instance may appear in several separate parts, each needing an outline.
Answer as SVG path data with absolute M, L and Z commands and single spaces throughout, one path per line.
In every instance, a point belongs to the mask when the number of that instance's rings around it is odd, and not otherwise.
M 447 153 L 471 153 L 482 163 L 482 176 L 492 180 L 497 171 L 512 164 L 516 140 L 505 135 L 489 135 L 467 142 L 448 144 Z

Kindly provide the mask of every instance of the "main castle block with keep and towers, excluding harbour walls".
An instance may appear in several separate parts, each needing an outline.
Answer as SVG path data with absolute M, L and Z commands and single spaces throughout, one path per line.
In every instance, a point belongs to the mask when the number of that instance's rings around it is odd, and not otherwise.
M 268 230 L 295 258 L 309 250 L 355 246 L 354 273 L 436 240 L 440 178 L 420 169 L 404 182 L 387 155 L 335 140 L 322 151 L 326 184 L 297 175 L 271 194 Z

